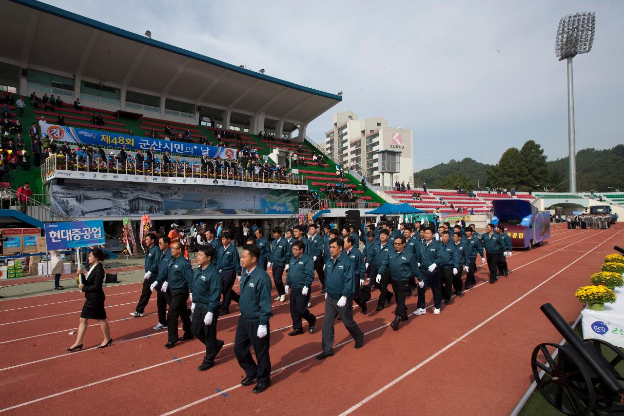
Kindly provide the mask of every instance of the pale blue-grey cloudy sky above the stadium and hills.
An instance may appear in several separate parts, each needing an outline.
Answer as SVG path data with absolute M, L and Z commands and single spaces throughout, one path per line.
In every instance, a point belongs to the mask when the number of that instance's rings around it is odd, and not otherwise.
M 561 17 L 595 11 L 593 49 L 573 61 L 577 149 L 624 142 L 621 0 L 46 3 L 343 91 L 343 102 L 313 121 L 308 136 L 324 141 L 336 111 L 379 114 L 413 130 L 416 171 L 463 157 L 495 163 L 529 139 L 548 159 L 567 156 L 566 65 L 555 57 L 555 32 Z

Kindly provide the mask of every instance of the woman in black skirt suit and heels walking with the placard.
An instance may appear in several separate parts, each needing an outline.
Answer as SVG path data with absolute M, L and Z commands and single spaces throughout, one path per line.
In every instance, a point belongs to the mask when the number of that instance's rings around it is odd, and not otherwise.
M 104 266 L 102 260 L 104 260 L 104 252 L 100 249 L 92 249 L 89 252 L 89 264 L 91 268 L 87 274 L 84 274 L 83 270 L 78 270 L 78 274 L 81 275 L 82 284 L 78 286 L 80 292 L 84 292 L 85 302 L 80 313 L 80 325 L 78 327 L 78 337 L 74 345 L 67 348 L 67 351 L 76 351 L 82 349 L 82 337 L 87 332 L 87 320 L 97 319 L 104 333 L 104 340 L 97 348 L 105 348 L 112 344 L 113 340 L 110 337 L 109 323 L 106 321 L 106 310 L 104 309 L 104 290 L 102 290 L 102 283 L 104 283 Z

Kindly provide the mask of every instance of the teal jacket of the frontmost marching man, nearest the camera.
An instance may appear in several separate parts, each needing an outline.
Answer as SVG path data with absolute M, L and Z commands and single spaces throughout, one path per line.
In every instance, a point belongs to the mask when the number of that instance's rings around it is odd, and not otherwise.
M 271 278 L 258 265 L 251 271 L 243 270 L 240 279 L 240 317 L 247 322 L 268 325 L 271 313 Z

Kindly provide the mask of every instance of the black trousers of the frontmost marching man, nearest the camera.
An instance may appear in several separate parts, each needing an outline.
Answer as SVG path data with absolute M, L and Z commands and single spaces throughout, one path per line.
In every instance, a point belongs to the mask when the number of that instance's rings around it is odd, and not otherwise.
M 258 383 L 266 383 L 271 380 L 271 359 L 269 357 L 269 344 L 271 329 L 266 325 L 267 334 L 258 338 L 258 326 L 260 322 L 247 322 L 243 317 L 238 318 L 236 338 L 234 340 L 234 355 L 238 365 L 245 370 L 246 377 L 258 377 Z M 258 364 L 251 357 L 250 348 L 256 355 Z

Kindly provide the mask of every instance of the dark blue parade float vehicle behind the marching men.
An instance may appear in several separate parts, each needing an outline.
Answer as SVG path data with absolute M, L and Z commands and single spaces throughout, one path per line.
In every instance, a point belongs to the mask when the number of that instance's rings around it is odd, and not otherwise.
M 550 212 L 522 199 L 507 198 L 492 201 L 492 224 L 504 225 L 514 248 L 532 249 L 550 237 Z

